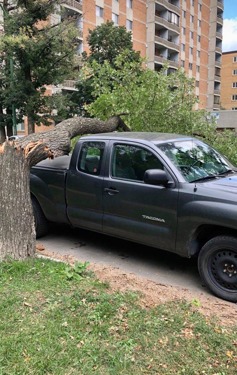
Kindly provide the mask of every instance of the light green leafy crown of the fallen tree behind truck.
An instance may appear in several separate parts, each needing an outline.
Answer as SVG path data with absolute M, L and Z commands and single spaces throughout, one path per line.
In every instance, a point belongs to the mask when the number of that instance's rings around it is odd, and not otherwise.
M 160 72 L 145 69 L 144 60 L 130 62 L 126 56 L 127 51 L 118 55 L 114 66 L 95 60 L 87 66 L 97 98 L 86 107 L 89 115 L 103 120 L 128 113 L 125 122 L 134 131 L 193 132 L 237 163 L 236 133 L 216 132 L 206 110 L 193 110 L 198 103 L 193 78 L 182 69 L 167 76 L 167 66 Z

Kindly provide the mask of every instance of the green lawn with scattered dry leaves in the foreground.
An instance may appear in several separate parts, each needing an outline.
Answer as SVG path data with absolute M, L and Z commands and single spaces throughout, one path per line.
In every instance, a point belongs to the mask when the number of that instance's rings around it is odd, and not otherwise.
M 42 259 L 0 264 L 0 374 L 237 373 L 237 332 L 195 306 L 143 309 L 139 294 L 67 272 Z

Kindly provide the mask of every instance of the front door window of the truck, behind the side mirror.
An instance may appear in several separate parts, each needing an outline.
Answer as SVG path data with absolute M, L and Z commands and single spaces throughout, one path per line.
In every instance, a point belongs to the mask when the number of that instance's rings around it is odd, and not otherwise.
M 164 169 L 157 157 L 142 147 L 116 144 L 112 157 L 112 177 L 143 181 L 147 169 Z

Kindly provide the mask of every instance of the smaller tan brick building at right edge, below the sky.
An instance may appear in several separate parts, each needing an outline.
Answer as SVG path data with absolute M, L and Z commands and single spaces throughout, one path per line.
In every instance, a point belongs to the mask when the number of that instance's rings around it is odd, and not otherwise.
M 222 55 L 221 104 L 226 110 L 237 110 L 237 51 Z

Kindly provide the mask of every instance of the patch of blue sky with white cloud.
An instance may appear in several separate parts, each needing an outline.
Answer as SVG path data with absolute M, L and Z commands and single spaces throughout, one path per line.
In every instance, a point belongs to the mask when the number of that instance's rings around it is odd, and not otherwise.
M 224 0 L 222 51 L 237 51 L 237 0 Z

